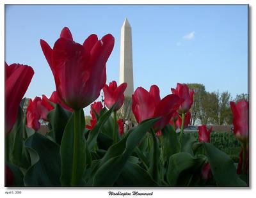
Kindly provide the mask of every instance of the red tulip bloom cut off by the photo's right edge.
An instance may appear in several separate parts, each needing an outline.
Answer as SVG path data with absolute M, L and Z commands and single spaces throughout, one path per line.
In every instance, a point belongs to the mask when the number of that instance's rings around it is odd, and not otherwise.
M 249 103 L 241 100 L 237 104 L 230 102 L 233 112 L 234 135 L 241 142 L 248 141 L 249 133 Z

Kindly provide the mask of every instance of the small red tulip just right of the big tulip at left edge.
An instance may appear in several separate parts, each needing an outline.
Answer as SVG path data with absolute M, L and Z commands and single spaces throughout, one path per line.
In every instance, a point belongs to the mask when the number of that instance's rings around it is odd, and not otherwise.
M 35 97 L 34 100 L 29 99 L 28 109 L 27 109 L 27 126 L 29 128 L 33 128 L 37 131 L 40 128 L 40 112 L 38 110 L 38 106 L 42 102 L 42 99 L 39 97 Z

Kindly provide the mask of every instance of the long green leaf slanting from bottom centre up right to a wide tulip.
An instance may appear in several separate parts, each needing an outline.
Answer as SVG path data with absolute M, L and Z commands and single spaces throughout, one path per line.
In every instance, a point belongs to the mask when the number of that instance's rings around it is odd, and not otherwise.
M 112 186 L 115 183 L 134 148 L 136 148 L 150 127 L 158 120 L 159 118 L 152 118 L 143 121 L 127 137 L 108 149 L 106 157 L 104 156 L 100 160 L 100 167 L 93 178 L 93 186 Z M 112 149 L 113 147 L 120 148 L 120 150 L 116 151 L 116 149 Z

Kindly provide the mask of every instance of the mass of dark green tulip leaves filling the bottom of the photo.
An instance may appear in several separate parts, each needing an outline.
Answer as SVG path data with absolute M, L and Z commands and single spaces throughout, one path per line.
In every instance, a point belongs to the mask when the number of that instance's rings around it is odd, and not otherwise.
M 6 137 L 6 165 L 14 174 L 13 186 L 248 186 L 244 182 L 249 181 L 248 175 L 236 174 L 234 162 L 239 159 L 240 144 L 232 132 L 212 132 L 211 144 L 198 142 L 198 133 L 184 133 L 180 144 L 179 133 L 169 124 L 157 137 L 152 126 L 159 118 L 152 118 L 122 137 L 118 135 L 113 144 L 112 112 L 113 108 L 94 112 L 97 123 L 89 131 L 83 109 L 70 116 L 55 105 L 48 115 L 51 130 L 42 135 L 26 127 L 20 110 L 12 133 Z M 202 171 L 208 162 L 211 174 L 205 179 Z

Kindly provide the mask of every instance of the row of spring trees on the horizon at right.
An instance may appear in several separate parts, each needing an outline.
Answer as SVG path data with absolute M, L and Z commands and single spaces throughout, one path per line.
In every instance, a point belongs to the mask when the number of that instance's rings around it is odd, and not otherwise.
M 188 83 L 189 89 L 195 91 L 194 102 L 190 109 L 190 125 L 231 125 L 232 111 L 230 101 L 239 102 L 248 101 L 248 94 L 243 93 L 232 98 L 228 91 L 220 93 L 219 91 L 208 92 L 203 84 Z

